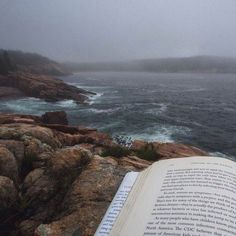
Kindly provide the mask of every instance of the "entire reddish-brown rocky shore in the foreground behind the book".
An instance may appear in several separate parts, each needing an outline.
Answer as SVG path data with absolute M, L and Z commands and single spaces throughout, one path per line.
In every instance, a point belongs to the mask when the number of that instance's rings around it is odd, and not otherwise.
M 207 154 L 144 141 L 124 152 L 107 134 L 66 124 L 64 112 L 0 115 L 1 235 L 93 235 L 128 171 Z

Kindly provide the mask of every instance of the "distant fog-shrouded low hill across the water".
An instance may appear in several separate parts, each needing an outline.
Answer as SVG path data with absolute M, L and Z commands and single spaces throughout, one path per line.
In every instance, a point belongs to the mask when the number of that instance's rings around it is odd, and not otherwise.
M 146 71 L 161 73 L 236 73 L 236 58 L 194 56 L 127 62 L 65 63 L 72 71 Z

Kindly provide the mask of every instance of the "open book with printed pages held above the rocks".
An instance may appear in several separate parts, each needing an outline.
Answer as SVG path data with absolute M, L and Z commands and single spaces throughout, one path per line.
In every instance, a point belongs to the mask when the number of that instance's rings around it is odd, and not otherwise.
M 95 235 L 235 236 L 236 163 L 187 157 L 128 173 Z

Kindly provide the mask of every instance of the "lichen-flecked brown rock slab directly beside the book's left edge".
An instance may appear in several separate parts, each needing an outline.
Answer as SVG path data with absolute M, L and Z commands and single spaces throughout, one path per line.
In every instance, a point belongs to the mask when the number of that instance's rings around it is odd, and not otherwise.
M 113 158 L 95 156 L 62 202 L 62 217 L 40 225 L 35 235 L 94 235 L 120 182 L 130 170 L 136 168 L 120 166 Z

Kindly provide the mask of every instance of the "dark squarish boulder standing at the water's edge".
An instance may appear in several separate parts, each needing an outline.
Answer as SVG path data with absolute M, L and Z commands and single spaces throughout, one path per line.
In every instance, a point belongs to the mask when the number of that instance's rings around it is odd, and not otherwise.
M 45 124 L 68 125 L 67 115 L 64 111 L 46 112 L 42 115 L 42 122 Z

